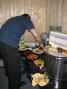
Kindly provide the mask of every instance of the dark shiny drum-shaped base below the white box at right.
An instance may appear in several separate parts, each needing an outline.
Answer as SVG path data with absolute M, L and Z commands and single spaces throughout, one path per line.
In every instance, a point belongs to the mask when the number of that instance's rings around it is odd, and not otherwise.
M 66 89 L 67 57 L 61 53 L 45 51 L 46 65 L 53 89 Z

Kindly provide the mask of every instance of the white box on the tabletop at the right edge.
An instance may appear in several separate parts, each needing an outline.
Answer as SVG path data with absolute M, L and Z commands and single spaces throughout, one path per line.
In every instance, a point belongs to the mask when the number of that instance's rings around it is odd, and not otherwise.
M 67 50 L 67 34 L 51 31 L 49 44 Z

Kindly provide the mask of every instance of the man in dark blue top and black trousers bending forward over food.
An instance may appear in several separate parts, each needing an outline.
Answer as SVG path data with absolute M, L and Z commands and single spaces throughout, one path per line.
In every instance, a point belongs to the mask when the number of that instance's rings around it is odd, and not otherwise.
M 25 31 L 32 33 L 36 41 L 39 37 L 28 14 L 8 19 L 0 30 L 0 54 L 4 60 L 6 75 L 8 75 L 9 89 L 19 89 L 20 70 L 17 62 L 20 60 L 18 46 Z

